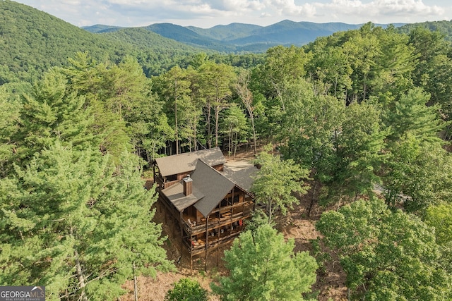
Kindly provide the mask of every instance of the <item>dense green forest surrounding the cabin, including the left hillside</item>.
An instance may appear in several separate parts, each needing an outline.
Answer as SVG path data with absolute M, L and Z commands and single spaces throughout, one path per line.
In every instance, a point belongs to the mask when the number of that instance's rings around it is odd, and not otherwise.
M 270 212 L 291 210 L 292 192 L 309 195 L 308 217 L 324 209 L 312 254 L 294 254 L 268 211 L 256 215 L 225 252 L 230 275 L 211 285 L 221 300 L 315 300 L 334 258 L 350 300 L 451 300 L 444 31 L 367 23 L 303 47 L 222 54 L 0 8 L 0 285 L 117 300 L 125 281 L 174 270 L 143 173 L 157 156 L 221 147 L 256 154 L 253 192 Z M 186 280 L 167 300 L 187 292 L 208 298 Z

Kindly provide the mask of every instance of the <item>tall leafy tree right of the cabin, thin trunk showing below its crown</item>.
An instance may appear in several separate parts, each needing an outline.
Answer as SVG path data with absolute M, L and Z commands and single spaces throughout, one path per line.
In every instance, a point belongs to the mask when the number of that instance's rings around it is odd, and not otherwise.
M 285 158 L 310 171 L 311 204 L 318 199 L 318 188 L 331 180 L 331 166 L 335 165 L 334 138 L 342 130 L 345 102 L 335 97 L 314 94 L 313 85 L 299 81 L 287 93 L 287 112 L 283 123 L 287 144 L 282 147 Z

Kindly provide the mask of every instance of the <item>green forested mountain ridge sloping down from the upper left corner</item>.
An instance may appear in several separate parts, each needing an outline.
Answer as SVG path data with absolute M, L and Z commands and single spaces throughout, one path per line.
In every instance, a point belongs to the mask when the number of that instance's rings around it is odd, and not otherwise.
M 30 6 L 0 1 L 0 84 L 63 66 L 78 51 L 114 63 L 133 54 L 139 56 L 148 75 L 155 75 L 201 50 L 150 31 L 129 33 L 124 29 L 114 35 L 95 35 Z

